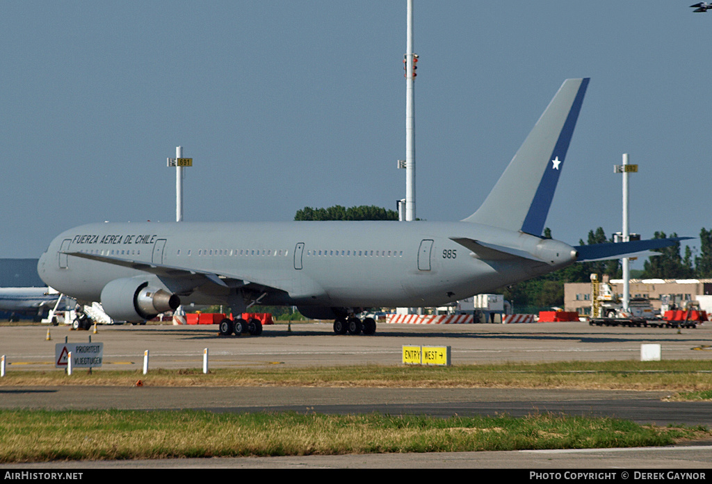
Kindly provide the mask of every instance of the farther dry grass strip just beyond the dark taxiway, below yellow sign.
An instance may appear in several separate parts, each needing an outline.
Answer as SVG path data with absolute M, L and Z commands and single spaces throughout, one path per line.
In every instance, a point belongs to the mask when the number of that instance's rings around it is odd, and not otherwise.
M 199 365 L 197 365 L 199 366 Z M 712 390 L 712 362 L 666 360 L 656 362 L 555 362 L 506 363 L 424 367 L 360 365 L 334 367 L 215 368 L 204 375 L 197 367 L 184 370 L 95 369 L 9 371 L 0 378 L 4 386 L 114 385 L 129 387 L 141 380 L 148 386 L 302 386 L 302 387 L 403 387 L 403 388 L 575 388 L 634 389 L 669 392 Z M 710 399 L 710 394 L 699 393 Z M 705 396 L 706 395 L 706 396 Z

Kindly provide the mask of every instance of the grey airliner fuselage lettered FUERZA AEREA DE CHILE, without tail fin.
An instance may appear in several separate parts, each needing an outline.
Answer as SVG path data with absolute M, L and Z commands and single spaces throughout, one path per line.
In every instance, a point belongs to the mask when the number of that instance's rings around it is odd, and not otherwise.
M 486 259 L 451 237 L 535 259 Z M 367 308 L 440 306 L 574 261 L 563 242 L 470 222 L 128 222 L 63 232 L 38 272 L 82 301 L 100 301 L 115 279 L 145 276 L 184 304 L 229 303 L 231 290 L 264 287 L 279 291 L 266 291 L 263 304 Z M 172 268 L 182 277 L 172 280 Z M 197 274 L 187 281 L 189 271 Z

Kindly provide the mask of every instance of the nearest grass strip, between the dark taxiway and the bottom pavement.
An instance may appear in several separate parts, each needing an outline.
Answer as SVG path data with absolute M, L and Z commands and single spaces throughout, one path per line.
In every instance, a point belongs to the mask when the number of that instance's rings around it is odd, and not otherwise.
M 706 429 L 535 414 L 523 418 L 381 414 L 0 411 L 0 462 L 664 446 Z

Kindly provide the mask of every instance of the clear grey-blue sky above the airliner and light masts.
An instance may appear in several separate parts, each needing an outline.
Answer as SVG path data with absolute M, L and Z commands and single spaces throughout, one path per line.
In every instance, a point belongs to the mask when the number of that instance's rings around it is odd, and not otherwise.
M 708 45 L 691 2 L 415 1 L 417 216 L 480 205 L 567 77 L 591 77 L 546 225 L 712 227 Z M 101 220 L 292 220 L 405 193 L 406 1 L 0 4 L 0 257 Z M 698 247 L 698 241 L 691 241 Z M 637 266 L 642 267 L 642 262 Z

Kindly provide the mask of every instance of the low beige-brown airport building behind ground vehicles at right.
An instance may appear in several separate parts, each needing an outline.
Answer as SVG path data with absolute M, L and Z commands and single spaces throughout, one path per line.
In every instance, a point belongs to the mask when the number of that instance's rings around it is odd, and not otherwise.
M 611 279 L 614 292 L 622 296 L 623 279 Z M 660 296 L 674 296 L 674 301 L 698 301 L 700 308 L 709 311 L 712 302 L 712 279 L 630 279 L 630 297 L 649 299 L 656 311 L 660 310 Z M 576 311 L 581 316 L 591 314 L 592 285 L 590 282 L 564 284 L 565 311 Z

